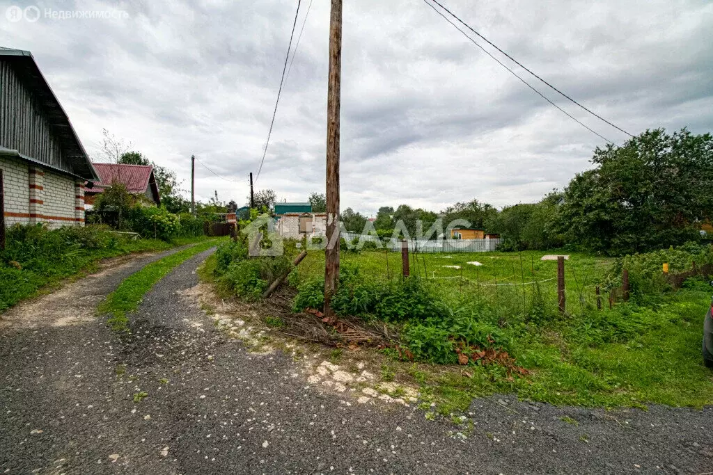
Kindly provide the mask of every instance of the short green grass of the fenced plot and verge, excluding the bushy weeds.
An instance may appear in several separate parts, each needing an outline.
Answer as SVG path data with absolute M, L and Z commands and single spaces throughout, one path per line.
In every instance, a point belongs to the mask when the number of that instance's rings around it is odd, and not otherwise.
M 702 321 L 713 293 L 710 288 L 701 284 L 641 298 L 638 304 L 617 303 L 612 310 L 602 293 L 604 308 L 597 310 L 595 286 L 613 260 L 567 253 L 568 312 L 559 315 L 557 262 L 540 261 L 544 254 L 556 253 L 419 254 L 418 265 L 411 261 L 411 275 L 428 276 L 426 285 L 451 308 L 474 308 L 476 322 L 485 318 L 486 323 L 501 328 L 509 353 L 529 371 L 525 377 L 510 378 L 503 367 L 469 365 L 468 376 L 443 375 L 437 369 L 416 370 L 411 363 L 401 363 L 404 368 L 399 372 L 411 375 L 422 393 L 438 404 L 439 413 L 464 411 L 473 397 L 503 392 L 559 405 L 645 407 L 658 403 L 700 408 L 713 404 L 713 372 L 704 367 L 701 357 Z M 342 266 L 358 265 L 361 276 L 379 281 L 399 279 L 400 254 L 388 254 L 389 273 L 386 256 L 383 252 L 342 253 Z M 483 265 L 473 266 L 469 261 Z M 291 282 L 299 284 L 323 273 L 324 253 L 312 251 Z M 530 284 L 524 286 L 523 295 L 523 286 L 496 287 L 496 280 L 544 281 L 540 291 L 545 318 L 529 320 L 534 300 Z M 490 313 L 477 313 L 483 304 Z

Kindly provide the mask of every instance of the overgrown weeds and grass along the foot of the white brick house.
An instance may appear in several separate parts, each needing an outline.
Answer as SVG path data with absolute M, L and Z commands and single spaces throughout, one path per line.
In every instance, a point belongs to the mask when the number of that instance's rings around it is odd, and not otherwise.
M 0 311 L 62 278 L 92 271 L 100 259 L 160 251 L 202 239 L 131 239 L 111 232 L 108 226 L 93 225 L 49 230 L 42 225 L 16 224 L 6 233 L 6 250 L 0 251 Z

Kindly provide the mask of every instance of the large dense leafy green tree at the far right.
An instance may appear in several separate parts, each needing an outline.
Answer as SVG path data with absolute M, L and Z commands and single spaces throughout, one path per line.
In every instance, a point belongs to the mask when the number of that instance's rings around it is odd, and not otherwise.
M 713 137 L 647 130 L 597 147 L 595 169 L 565 189 L 560 230 L 594 251 L 633 254 L 699 239 L 713 214 Z

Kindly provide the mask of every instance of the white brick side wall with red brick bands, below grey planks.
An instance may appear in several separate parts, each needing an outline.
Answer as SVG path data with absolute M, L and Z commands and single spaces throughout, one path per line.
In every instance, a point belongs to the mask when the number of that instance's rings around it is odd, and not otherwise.
M 81 182 L 51 169 L 0 157 L 5 188 L 5 224 L 47 223 L 51 228 L 83 226 Z

